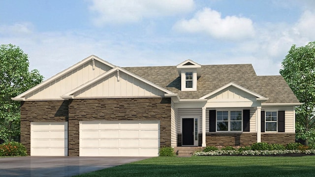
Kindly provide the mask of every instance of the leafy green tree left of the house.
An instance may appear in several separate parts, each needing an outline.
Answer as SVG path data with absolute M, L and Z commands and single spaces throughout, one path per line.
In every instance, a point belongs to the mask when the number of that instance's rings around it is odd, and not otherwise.
M 11 100 L 43 80 L 38 70 L 29 71 L 28 55 L 19 47 L 0 45 L 0 139 L 18 140 L 20 102 Z

